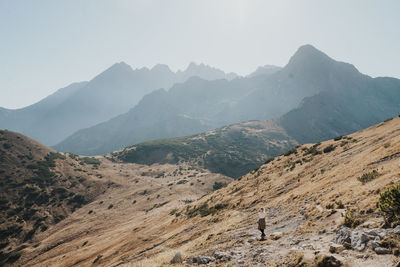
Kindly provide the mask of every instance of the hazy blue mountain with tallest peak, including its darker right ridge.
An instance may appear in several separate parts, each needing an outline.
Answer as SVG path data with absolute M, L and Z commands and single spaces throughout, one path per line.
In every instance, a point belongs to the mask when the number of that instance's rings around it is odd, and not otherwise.
M 276 138 L 293 145 L 318 142 L 354 132 L 398 114 L 399 99 L 398 79 L 371 78 L 361 74 L 353 65 L 335 61 L 313 46 L 305 45 L 298 49 L 282 69 L 264 67 L 252 75 L 231 81 L 191 78 L 185 83 L 174 85 L 168 91 L 152 92 L 126 114 L 80 130 L 55 148 L 95 155 L 148 140 L 196 134 L 249 120 L 278 118 L 274 125 L 280 129 L 280 133 L 284 133 L 283 136 L 278 134 L 271 138 L 268 128 L 260 129 L 254 134 L 252 126 L 248 128 L 246 124 L 232 128 L 235 131 L 241 129 L 239 132 L 246 144 L 232 150 L 232 153 L 242 153 L 250 149 L 263 155 L 257 157 L 257 160 L 252 157 L 245 157 L 246 160 L 242 156 L 234 157 L 241 163 L 247 160 L 253 162 L 234 175 L 237 176 L 288 148 L 287 145 L 278 145 L 279 149 L 271 150 L 268 145 L 269 148 L 264 150 L 265 144 L 276 143 Z M 245 134 L 243 131 L 252 134 Z M 217 130 L 217 133 L 220 132 Z M 260 132 L 263 132 L 263 137 L 258 135 Z M 208 144 L 207 139 L 211 135 L 206 134 L 205 138 L 200 136 L 194 139 L 197 143 L 201 142 L 199 140 L 204 141 L 201 144 L 204 149 L 200 153 L 201 157 L 212 157 L 209 151 L 215 151 L 215 147 L 219 146 L 213 142 L 210 142 L 212 145 Z M 221 137 L 219 134 L 216 136 Z M 266 142 L 265 136 L 269 136 Z M 188 142 L 190 139 L 180 140 Z M 237 145 L 236 138 L 228 140 L 231 141 L 224 139 L 219 142 Z M 161 141 L 155 144 L 162 146 Z M 184 158 L 177 155 L 171 157 L 171 152 L 165 151 L 165 147 L 152 147 L 157 156 L 144 153 L 148 156 L 146 162 L 157 162 L 156 158 L 162 162 L 193 161 L 199 156 L 199 150 L 191 142 L 186 144 L 185 149 L 188 150 Z M 169 155 L 168 160 L 160 156 L 160 153 Z

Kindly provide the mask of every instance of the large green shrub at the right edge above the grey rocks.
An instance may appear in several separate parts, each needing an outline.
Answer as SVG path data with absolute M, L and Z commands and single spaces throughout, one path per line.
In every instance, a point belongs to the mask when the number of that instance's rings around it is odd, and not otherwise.
M 389 187 L 379 196 L 379 211 L 386 223 L 399 222 L 400 219 L 400 184 Z

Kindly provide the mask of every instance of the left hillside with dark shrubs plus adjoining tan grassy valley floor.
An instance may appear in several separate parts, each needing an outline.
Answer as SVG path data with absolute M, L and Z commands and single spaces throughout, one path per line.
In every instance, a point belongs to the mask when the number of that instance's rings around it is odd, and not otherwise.
M 107 231 L 123 238 L 127 223 L 139 225 L 231 181 L 185 164 L 149 167 L 60 154 L 10 131 L 0 131 L 0 159 L 0 266 L 31 266 L 21 262 L 65 251 L 63 243 L 81 245 L 82 238 L 90 247 Z M 137 238 L 148 230 L 138 229 Z

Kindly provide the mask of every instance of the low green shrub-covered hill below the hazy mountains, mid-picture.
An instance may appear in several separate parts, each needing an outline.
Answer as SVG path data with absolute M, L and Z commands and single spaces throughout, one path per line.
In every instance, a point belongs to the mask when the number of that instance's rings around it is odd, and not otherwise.
M 186 162 L 237 178 L 297 145 L 275 121 L 250 121 L 188 137 L 140 143 L 112 153 L 139 164 Z

